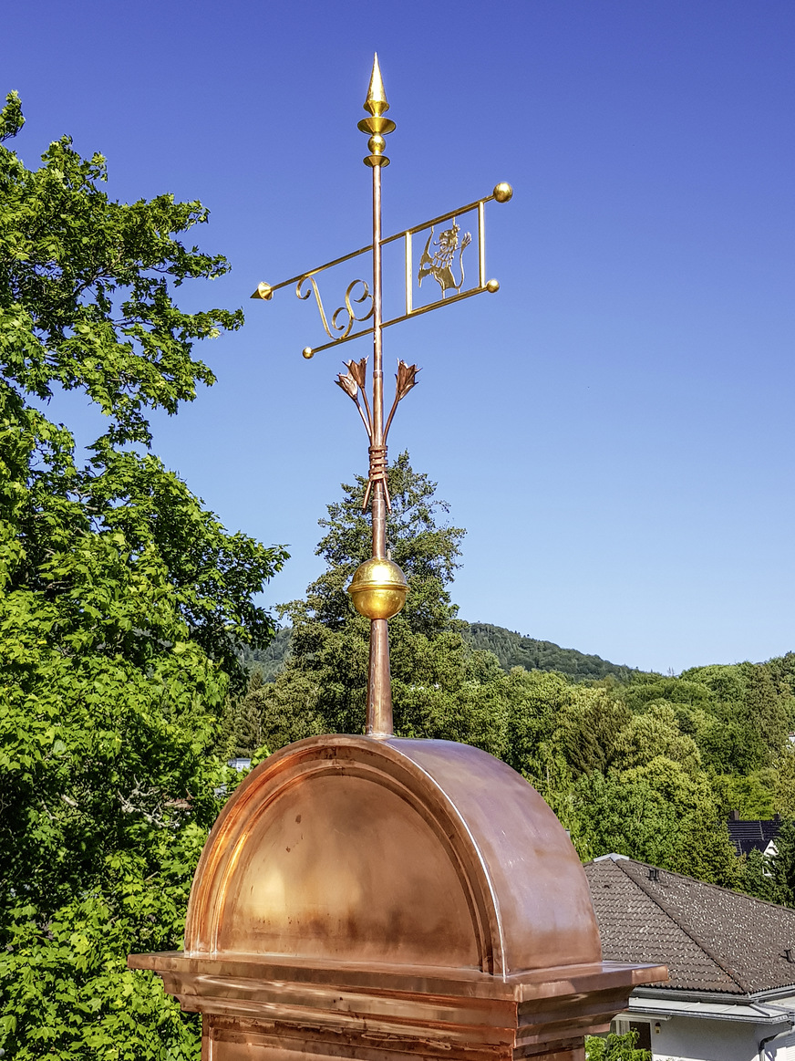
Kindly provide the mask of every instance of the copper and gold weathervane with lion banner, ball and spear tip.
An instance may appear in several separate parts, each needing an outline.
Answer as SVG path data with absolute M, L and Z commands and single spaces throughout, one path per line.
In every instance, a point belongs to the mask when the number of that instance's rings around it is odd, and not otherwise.
M 372 402 L 367 395 L 367 358 L 360 361 L 344 362 L 347 372 L 340 372 L 335 380 L 337 385 L 355 403 L 370 441 L 370 467 L 367 489 L 363 508 L 371 507 L 372 514 L 372 559 L 360 564 L 348 588 L 356 610 L 370 620 L 370 669 L 367 682 L 367 728 L 372 736 L 391 736 L 392 734 L 392 691 L 389 675 L 389 634 L 387 622 L 403 608 L 408 590 L 406 578 L 401 569 L 387 556 L 387 510 L 390 507 L 389 487 L 387 484 L 387 435 L 399 403 L 406 397 L 417 383 L 417 365 L 398 362 L 396 387 L 394 401 L 384 423 L 384 371 L 382 367 L 382 331 L 390 325 L 407 320 L 409 317 L 427 313 L 442 306 L 479 295 L 484 291 L 494 293 L 499 290 L 496 280 L 485 279 L 485 204 L 491 199 L 507 203 L 513 195 L 510 185 L 499 184 L 491 195 L 476 199 L 458 210 L 441 214 L 422 225 L 416 225 L 406 231 L 382 239 L 381 234 L 381 171 L 389 166 L 389 158 L 384 154 L 389 133 L 394 131 L 394 122 L 385 118 L 389 110 L 384 82 L 378 68 L 378 56 L 373 62 L 370 87 L 365 100 L 365 110 L 370 115 L 363 118 L 358 128 L 369 134 L 367 142 L 370 154 L 364 159 L 373 173 L 373 241 L 370 246 L 361 247 L 349 255 L 343 255 L 325 265 L 310 269 L 300 276 L 294 276 L 281 283 L 260 283 L 252 298 L 263 298 L 269 301 L 280 288 L 296 284 L 296 294 L 302 300 L 313 295 L 317 303 L 323 330 L 329 337 L 321 346 L 304 347 L 304 358 L 312 358 L 320 350 L 348 343 L 361 335 L 373 336 L 373 370 L 372 370 Z M 477 282 L 466 286 L 464 267 L 464 251 L 473 242 L 472 233 L 462 231 L 459 221 L 470 213 L 476 213 L 476 230 L 478 244 Z M 440 227 L 444 226 L 444 227 Z M 439 227 L 439 234 L 436 236 Z M 420 255 L 418 268 L 414 272 L 414 255 L 412 237 L 419 232 L 428 231 L 427 239 Z M 388 244 L 402 240 L 404 245 L 403 285 L 405 294 L 405 312 L 383 319 L 382 294 L 382 251 Z M 372 254 L 372 290 L 367 280 L 354 279 L 346 288 L 343 305 L 326 314 L 318 286 L 317 278 L 326 269 L 341 265 L 343 262 L 358 258 L 360 255 Z M 418 297 L 414 298 L 414 277 L 417 278 Z M 432 286 L 430 301 L 422 301 L 420 292 L 422 283 L 435 281 L 439 293 Z M 427 298 L 428 288 L 425 289 Z M 418 305 L 416 305 L 416 301 Z M 372 324 L 368 324 L 372 321 Z M 367 325 L 367 327 L 363 327 Z M 359 393 L 361 401 L 359 401 Z

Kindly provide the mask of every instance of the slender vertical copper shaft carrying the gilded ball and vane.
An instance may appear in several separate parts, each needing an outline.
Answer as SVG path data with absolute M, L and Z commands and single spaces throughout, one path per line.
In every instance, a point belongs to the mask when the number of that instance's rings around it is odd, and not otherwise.
M 382 365 L 381 295 L 381 166 L 373 167 L 373 437 L 384 445 L 384 369 Z M 387 512 L 384 483 L 373 484 L 373 557 L 387 555 Z M 392 686 L 389 677 L 389 630 L 386 619 L 370 620 L 370 671 L 367 679 L 367 732 L 392 734 Z

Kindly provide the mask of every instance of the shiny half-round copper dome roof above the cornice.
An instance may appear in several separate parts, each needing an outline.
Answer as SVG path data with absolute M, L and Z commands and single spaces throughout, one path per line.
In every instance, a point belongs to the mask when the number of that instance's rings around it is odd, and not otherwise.
M 334 735 L 271 755 L 230 799 L 186 955 L 497 976 L 601 961 L 580 860 L 518 773 L 467 745 Z

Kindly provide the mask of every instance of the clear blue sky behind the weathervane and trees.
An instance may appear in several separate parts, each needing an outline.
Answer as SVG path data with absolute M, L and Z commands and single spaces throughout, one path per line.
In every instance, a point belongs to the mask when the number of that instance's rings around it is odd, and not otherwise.
M 515 188 L 490 206 L 499 294 L 385 333 L 387 366 L 424 369 L 392 453 L 469 530 L 461 616 L 660 671 L 795 648 L 791 0 L 11 5 L 24 160 L 71 134 L 114 196 L 201 199 L 233 265 L 184 298 L 246 327 L 206 345 L 218 383 L 156 452 L 288 543 L 269 599 L 302 594 L 366 468 L 332 380 L 367 341 L 306 362 L 314 311 L 248 295 L 367 242 L 374 50 L 387 231 Z

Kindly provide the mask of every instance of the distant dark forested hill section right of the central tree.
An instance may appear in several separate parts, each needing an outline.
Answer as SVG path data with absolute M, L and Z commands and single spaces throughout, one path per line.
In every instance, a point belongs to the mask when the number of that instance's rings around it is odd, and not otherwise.
M 576 648 L 561 648 L 552 641 L 523 637 L 515 630 L 492 623 L 467 623 L 462 632 L 464 641 L 473 648 L 494 653 L 504 671 L 524 666 L 526 671 L 559 671 L 571 678 L 606 678 L 612 674 L 621 681 L 636 673 L 632 667 L 611 663 L 601 656 L 586 656 Z

